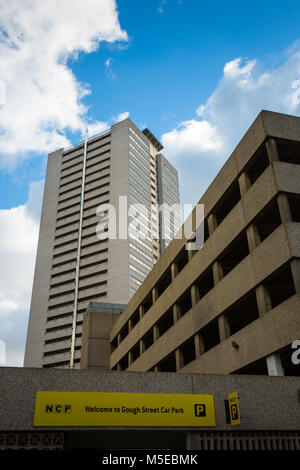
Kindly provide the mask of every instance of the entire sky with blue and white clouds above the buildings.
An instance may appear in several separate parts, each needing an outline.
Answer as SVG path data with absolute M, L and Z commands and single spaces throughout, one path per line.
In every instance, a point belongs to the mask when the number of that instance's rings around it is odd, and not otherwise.
M 197 202 L 261 109 L 300 115 L 300 3 L 0 0 L 0 34 L 0 340 L 18 365 L 47 153 L 129 115 Z

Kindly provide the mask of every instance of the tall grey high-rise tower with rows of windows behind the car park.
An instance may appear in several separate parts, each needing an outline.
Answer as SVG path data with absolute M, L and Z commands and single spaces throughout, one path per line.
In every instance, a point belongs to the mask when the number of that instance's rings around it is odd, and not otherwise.
M 165 175 L 164 157 L 156 159 L 162 149 L 149 129 L 141 132 L 125 119 L 49 155 L 26 367 L 79 368 L 89 302 L 127 304 L 157 262 L 162 249 L 158 200 L 179 204 L 177 171 L 169 164 Z M 129 239 L 134 206 L 144 209 L 139 217 L 144 236 Z M 109 210 L 116 212 L 115 237 L 105 230 Z

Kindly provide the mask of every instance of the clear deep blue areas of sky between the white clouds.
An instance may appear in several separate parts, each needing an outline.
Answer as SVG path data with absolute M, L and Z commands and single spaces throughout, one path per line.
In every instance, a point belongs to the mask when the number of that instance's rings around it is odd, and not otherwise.
M 284 61 L 300 27 L 295 0 L 118 0 L 117 7 L 128 41 L 102 43 L 95 52 L 81 51 L 67 63 L 90 89 L 83 103 L 89 106 L 91 121 L 107 122 L 127 111 L 159 139 L 195 116 L 227 62 L 255 58 L 272 70 Z M 108 59 L 110 67 L 105 66 Z M 76 132 L 64 132 L 72 143 L 80 138 Z M 0 208 L 26 202 L 30 182 L 44 178 L 46 155 L 32 152 L 17 171 L 2 168 Z

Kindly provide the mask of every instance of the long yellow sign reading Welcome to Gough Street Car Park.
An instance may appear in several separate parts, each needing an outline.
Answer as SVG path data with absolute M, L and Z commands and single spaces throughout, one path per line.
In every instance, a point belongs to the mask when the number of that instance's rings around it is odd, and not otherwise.
M 213 395 L 37 392 L 34 426 L 215 426 Z

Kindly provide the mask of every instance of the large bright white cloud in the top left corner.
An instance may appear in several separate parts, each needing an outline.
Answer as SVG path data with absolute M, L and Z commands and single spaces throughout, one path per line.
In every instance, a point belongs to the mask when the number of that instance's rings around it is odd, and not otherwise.
M 0 165 L 7 167 L 28 152 L 68 145 L 66 130 L 84 131 L 90 90 L 67 60 L 127 34 L 114 0 L 2 0 L 0 31 Z

